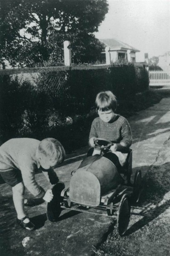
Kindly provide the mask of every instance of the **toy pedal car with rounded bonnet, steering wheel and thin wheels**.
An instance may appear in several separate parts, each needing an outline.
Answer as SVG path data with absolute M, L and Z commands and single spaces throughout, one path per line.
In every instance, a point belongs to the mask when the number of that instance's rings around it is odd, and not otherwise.
M 69 188 L 61 192 L 60 205 L 64 209 L 85 212 L 89 212 L 89 208 L 105 210 L 108 216 L 117 219 L 117 230 L 123 236 L 131 215 L 130 200 L 138 202 L 141 194 L 141 171 L 136 171 L 131 185 L 132 150 L 126 164 L 117 170 L 111 159 L 105 157 L 112 144 L 99 138 L 95 140 L 95 154 L 87 154 L 72 172 Z

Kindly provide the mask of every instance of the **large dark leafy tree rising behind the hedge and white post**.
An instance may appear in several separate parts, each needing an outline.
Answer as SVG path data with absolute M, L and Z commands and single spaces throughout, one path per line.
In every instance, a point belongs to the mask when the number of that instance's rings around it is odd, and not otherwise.
M 1 63 L 5 58 L 12 66 L 34 66 L 56 61 L 58 52 L 62 60 L 65 39 L 73 41 L 75 50 L 83 50 L 79 61 L 89 61 L 95 55 L 90 52 L 102 49 L 92 33 L 105 18 L 107 0 L 0 0 L 0 4 Z M 76 60 L 75 56 L 78 54 L 73 55 Z

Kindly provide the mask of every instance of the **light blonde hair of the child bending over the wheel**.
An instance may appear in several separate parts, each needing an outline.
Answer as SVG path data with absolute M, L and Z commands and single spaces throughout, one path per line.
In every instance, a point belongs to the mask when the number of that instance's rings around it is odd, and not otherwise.
M 55 164 L 61 164 L 65 159 L 65 150 L 55 138 L 44 138 L 37 148 L 37 154 L 49 158 Z

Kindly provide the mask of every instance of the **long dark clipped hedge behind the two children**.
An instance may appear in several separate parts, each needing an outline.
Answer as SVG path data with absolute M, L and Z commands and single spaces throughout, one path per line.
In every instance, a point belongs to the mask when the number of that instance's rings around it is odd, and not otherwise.
M 98 92 L 111 90 L 118 99 L 117 111 L 126 109 L 126 115 L 136 109 L 136 93 L 148 86 L 145 68 L 132 64 L 41 72 L 34 85 L 20 82 L 18 77 L 1 76 L 0 143 L 15 137 L 54 137 L 68 150 L 79 147 L 87 143 Z

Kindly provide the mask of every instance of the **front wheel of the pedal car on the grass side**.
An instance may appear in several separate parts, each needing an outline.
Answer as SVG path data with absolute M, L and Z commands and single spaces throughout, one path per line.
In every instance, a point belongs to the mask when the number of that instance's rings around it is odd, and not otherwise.
M 129 220 L 131 216 L 131 205 L 129 202 L 129 197 L 124 194 L 121 198 L 118 210 L 117 210 L 117 231 L 120 236 L 123 236 L 129 225 Z

